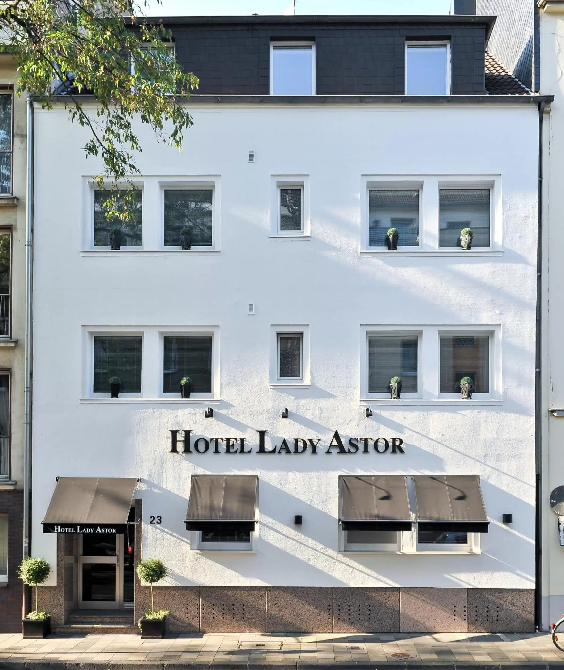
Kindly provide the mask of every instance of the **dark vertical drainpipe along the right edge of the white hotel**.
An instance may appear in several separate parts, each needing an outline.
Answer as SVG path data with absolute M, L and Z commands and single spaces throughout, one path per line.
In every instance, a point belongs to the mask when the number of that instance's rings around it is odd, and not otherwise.
M 541 316 L 543 272 L 543 117 L 545 100 L 539 103 L 539 213 L 537 219 L 537 314 L 535 318 L 535 628 L 542 620 L 542 544 L 541 544 Z

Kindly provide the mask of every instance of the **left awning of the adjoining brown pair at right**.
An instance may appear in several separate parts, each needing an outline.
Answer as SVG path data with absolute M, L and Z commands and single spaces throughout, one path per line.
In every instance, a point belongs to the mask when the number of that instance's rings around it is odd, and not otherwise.
M 405 476 L 341 476 L 344 531 L 410 531 L 411 513 Z

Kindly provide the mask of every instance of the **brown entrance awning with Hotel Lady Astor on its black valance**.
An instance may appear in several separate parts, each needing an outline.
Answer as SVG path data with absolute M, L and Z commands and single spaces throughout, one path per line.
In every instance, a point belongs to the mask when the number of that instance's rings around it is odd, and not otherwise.
M 58 477 L 43 533 L 124 533 L 136 478 Z

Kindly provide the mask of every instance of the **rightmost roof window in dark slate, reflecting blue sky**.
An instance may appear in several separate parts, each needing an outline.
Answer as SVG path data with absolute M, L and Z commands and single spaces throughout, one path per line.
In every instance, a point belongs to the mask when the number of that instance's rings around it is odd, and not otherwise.
M 405 94 L 450 94 L 450 43 L 405 44 Z

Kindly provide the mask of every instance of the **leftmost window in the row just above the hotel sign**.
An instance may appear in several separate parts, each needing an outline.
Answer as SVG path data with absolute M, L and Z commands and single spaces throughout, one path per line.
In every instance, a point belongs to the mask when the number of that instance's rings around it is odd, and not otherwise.
M 121 380 L 120 393 L 141 393 L 140 336 L 94 337 L 94 393 L 110 393 L 110 377 Z

